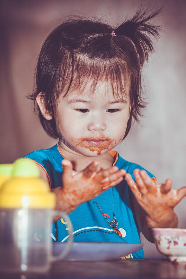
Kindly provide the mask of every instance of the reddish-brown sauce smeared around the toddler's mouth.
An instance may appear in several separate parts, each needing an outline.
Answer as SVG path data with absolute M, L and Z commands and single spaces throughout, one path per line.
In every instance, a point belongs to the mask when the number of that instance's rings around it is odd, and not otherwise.
M 121 140 L 121 139 L 120 139 Z M 97 155 L 101 154 L 101 151 L 108 149 L 110 146 L 116 146 L 119 142 L 115 139 L 102 137 L 92 137 L 92 138 L 70 138 L 69 141 L 72 145 L 81 146 L 88 148 L 90 151 L 97 151 Z

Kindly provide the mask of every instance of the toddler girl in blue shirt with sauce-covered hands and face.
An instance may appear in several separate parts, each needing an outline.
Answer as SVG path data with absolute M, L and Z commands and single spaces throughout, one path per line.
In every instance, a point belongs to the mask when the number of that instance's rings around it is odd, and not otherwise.
M 56 209 L 69 214 L 74 241 L 138 243 L 140 231 L 153 241 L 152 227 L 178 225 L 173 208 L 186 187 L 172 190 L 170 179 L 156 185 L 150 172 L 112 151 L 144 108 L 141 69 L 153 52 L 149 36 L 159 36 L 149 23 L 159 12 L 137 11 L 116 29 L 70 19 L 42 46 L 30 99 L 59 141 L 25 157 L 40 166 Z M 66 222 L 58 219 L 51 237 L 66 241 Z M 131 257 L 144 257 L 143 250 Z

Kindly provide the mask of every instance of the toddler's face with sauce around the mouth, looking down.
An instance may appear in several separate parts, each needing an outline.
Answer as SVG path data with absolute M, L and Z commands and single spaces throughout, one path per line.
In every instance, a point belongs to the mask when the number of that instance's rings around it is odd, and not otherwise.
M 124 137 L 130 117 L 129 92 L 122 100 L 102 83 L 90 94 L 84 90 L 61 96 L 55 110 L 57 130 L 65 149 L 94 157 L 114 148 Z

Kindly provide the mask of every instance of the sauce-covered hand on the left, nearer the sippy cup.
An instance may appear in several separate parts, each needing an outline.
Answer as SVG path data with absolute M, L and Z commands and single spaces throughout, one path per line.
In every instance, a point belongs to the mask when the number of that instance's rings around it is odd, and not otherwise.
M 84 170 L 77 172 L 73 170 L 70 161 L 62 161 L 63 186 L 52 189 L 57 198 L 57 210 L 62 210 L 68 214 L 75 210 L 78 205 L 93 199 L 123 180 L 125 170 L 118 170 L 118 167 L 112 166 L 96 172 L 98 165 L 98 162 L 93 161 Z

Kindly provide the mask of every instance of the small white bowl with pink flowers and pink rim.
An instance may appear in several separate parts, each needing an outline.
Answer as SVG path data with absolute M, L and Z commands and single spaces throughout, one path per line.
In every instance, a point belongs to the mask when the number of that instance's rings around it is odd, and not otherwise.
M 152 228 L 157 250 L 172 262 L 186 262 L 186 229 Z

